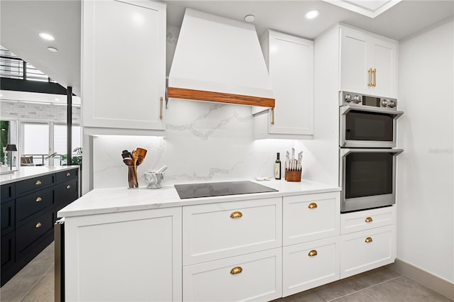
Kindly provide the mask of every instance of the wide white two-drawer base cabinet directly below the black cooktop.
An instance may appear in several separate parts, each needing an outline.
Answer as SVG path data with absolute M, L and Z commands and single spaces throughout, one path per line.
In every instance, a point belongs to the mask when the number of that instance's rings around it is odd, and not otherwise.
M 183 300 L 282 296 L 282 198 L 183 207 Z

